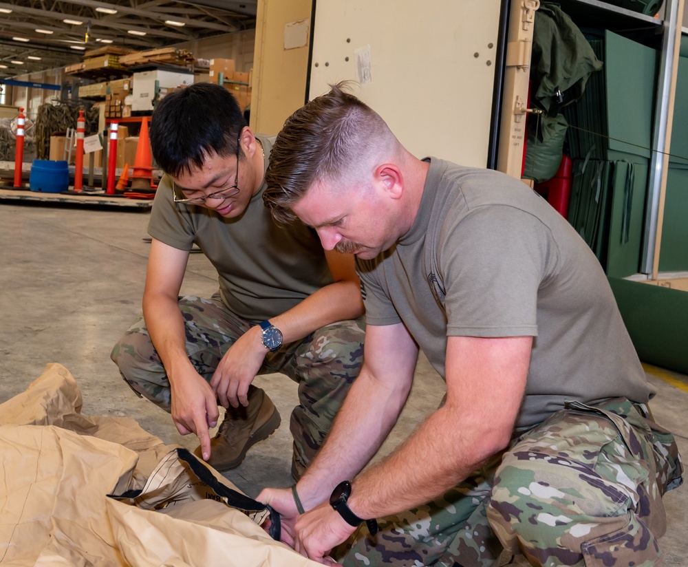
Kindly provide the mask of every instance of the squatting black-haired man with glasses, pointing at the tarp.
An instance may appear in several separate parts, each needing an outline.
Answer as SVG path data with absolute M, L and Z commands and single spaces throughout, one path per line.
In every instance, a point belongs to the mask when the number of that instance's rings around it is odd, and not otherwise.
M 292 475 L 322 444 L 363 358 L 363 301 L 351 257 L 323 250 L 303 224 L 276 224 L 262 193 L 274 138 L 252 133 L 219 85 L 165 96 L 153 113 L 151 149 L 165 172 L 156 191 L 143 317 L 111 359 L 140 396 L 171 412 L 197 454 L 219 471 L 237 467 L 280 417 L 257 374 L 299 383 L 292 411 Z M 219 290 L 180 297 L 196 244 Z M 208 429 L 226 408 L 217 435 Z

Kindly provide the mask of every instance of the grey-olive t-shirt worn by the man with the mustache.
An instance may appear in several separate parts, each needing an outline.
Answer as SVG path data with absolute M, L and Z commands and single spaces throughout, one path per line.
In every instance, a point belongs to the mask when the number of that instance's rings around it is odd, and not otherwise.
M 647 402 L 607 278 L 572 226 L 519 180 L 429 161 L 410 231 L 357 261 L 366 324 L 402 321 L 443 377 L 447 336 L 535 337 L 519 427 L 564 400 Z

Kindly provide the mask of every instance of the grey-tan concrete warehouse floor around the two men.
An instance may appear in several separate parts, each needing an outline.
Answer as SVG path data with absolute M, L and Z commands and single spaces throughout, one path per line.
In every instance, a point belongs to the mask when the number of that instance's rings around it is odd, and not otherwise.
M 0 202 L 0 402 L 23 392 L 47 363 L 57 362 L 74 374 L 84 414 L 132 416 L 167 443 L 195 447 L 195 438 L 180 436 L 168 414 L 131 392 L 109 359 L 112 345 L 140 312 L 148 217 L 147 211 Z M 204 296 L 216 288 L 211 265 L 202 254 L 192 254 L 182 292 Z M 677 435 L 688 460 L 688 378 L 668 374 L 685 386 L 649 374 L 658 388 L 652 410 Z M 416 375 L 409 403 L 382 453 L 440 403 L 444 385 L 424 359 Z M 290 486 L 286 424 L 297 403 L 296 386 L 284 376 L 259 376 L 255 383 L 274 400 L 283 425 L 226 474 L 249 495 L 264 486 Z M 665 505 L 664 564 L 688 566 L 688 489 L 668 493 Z M 501 564 L 527 565 L 523 557 L 505 554 L 500 559 Z

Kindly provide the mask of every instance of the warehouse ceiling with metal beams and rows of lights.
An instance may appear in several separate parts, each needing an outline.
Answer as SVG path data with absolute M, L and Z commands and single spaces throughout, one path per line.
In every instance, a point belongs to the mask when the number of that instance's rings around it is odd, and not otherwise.
M 143 51 L 248 30 L 256 7 L 257 0 L 0 1 L 0 78 L 78 63 L 106 45 Z

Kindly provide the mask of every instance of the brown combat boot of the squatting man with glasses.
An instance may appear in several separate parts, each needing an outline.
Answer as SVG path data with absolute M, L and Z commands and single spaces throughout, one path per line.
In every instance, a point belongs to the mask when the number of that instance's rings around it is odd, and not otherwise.
M 224 472 L 241 464 L 246 451 L 257 442 L 267 439 L 279 427 L 279 412 L 267 394 L 253 385 L 248 387 L 248 406 L 229 407 L 224 420 L 211 439 L 211 458 L 208 464 Z M 193 451 L 201 457 L 201 448 Z

